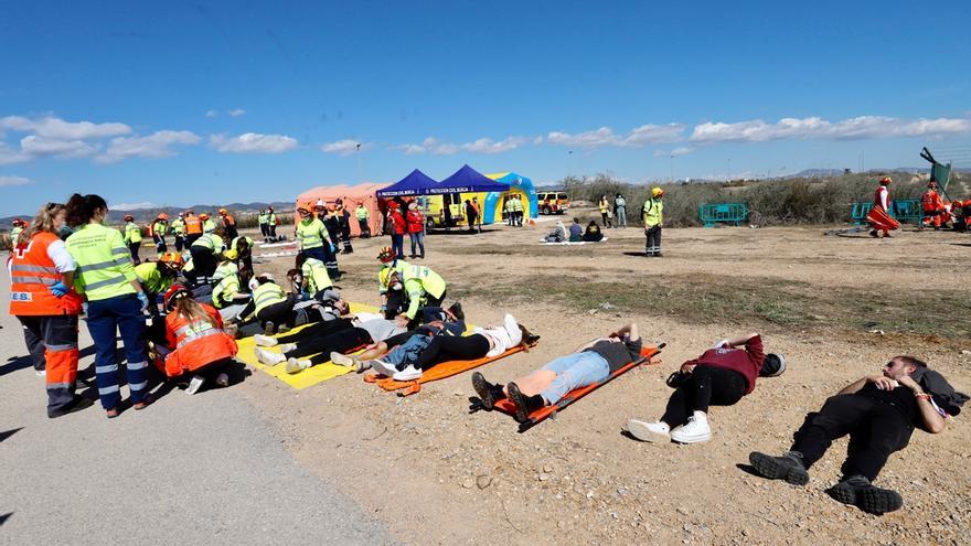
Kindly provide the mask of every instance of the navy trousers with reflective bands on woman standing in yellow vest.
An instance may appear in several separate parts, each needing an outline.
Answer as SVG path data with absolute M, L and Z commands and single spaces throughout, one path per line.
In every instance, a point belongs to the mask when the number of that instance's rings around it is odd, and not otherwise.
M 98 397 L 105 409 L 121 403 L 118 386 L 118 361 L 115 357 L 115 332 L 121 333 L 128 361 L 128 388 L 131 403 L 138 404 L 148 393 L 148 362 L 145 356 L 145 315 L 134 293 L 87 303 L 87 329 L 95 342 L 95 376 Z

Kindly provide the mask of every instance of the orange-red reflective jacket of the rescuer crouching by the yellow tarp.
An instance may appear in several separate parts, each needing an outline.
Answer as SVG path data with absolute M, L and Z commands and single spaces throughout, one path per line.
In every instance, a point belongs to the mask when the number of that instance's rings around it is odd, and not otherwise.
M 223 358 L 236 355 L 236 340 L 223 330 L 220 312 L 202 304 L 215 325 L 205 320 L 190 321 L 175 313 L 166 317 L 166 338 L 172 352 L 166 356 L 166 375 L 178 377 Z

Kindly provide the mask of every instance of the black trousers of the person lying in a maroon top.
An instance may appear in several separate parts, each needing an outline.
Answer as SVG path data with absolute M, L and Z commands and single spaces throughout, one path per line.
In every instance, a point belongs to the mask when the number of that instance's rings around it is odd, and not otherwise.
M 671 428 L 687 422 L 695 411 L 707 413 L 708 406 L 732 406 L 745 396 L 748 382 L 733 370 L 695 366 L 687 379 L 674 389 L 661 420 Z

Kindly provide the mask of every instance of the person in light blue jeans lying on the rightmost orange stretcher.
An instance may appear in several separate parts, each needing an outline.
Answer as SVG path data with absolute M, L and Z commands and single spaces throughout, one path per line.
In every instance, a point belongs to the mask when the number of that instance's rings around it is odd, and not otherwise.
M 607 338 L 580 345 L 572 354 L 559 356 L 542 368 L 513 382 L 504 388 L 491 384 L 476 372 L 472 388 L 482 400 L 482 407 L 492 409 L 495 402 L 509 398 L 516 406 L 515 419 L 525 422 L 530 414 L 556 404 L 575 388 L 600 383 L 629 362 L 640 358 L 641 336 L 636 323 L 621 326 Z

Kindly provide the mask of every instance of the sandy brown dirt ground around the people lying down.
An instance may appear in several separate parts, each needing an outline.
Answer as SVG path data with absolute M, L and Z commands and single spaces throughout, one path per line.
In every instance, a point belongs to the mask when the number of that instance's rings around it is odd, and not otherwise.
M 399 398 L 350 374 L 297 392 L 262 373 L 241 385 L 298 460 L 385 521 L 405 543 L 967 544 L 971 425 L 915 432 L 877 484 L 904 508 L 883 517 L 831 500 L 845 456 L 836 442 L 808 486 L 745 471 L 751 450 L 781 452 L 808 411 L 895 354 L 914 354 L 971 392 L 971 235 L 905 231 L 892 239 L 823 228 L 665 229 L 649 259 L 640 228 L 593 246 L 551 247 L 535 227 L 427 238 L 430 266 L 469 321 L 513 313 L 540 345 L 480 368 L 508 382 L 634 321 L 663 362 L 636 370 L 525 433 L 498 413 L 469 414 L 462 374 Z M 865 235 L 865 234 L 864 234 Z M 387 237 L 340 256 L 344 295 L 377 303 L 375 260 Z M 407 242 L 406 242 L 407 247 Z M 629 254 L 626 254 L 629 253 Z M 291 258 L 262 269 L 282 274 Z M 451 300 L 452 298 L 449 298 Z M 664 378 L 714 341 L 760 331 L 788 371 L 709 414 L 713 439 L 655 446 L 621 435 L 655 419 Z M 971 409 L 969 409 L 971 410 Z

